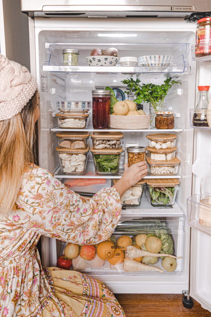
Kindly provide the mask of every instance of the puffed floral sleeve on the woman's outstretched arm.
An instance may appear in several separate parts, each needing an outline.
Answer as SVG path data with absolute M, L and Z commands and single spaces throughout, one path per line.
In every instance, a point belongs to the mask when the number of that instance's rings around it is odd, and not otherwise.
M 85 199 L 67 189 L 51 173 L 28 167 L 11 221 L 38 234 L 77 244 L 107 240 L 121 216 L 115 188 L 104 188 Z

